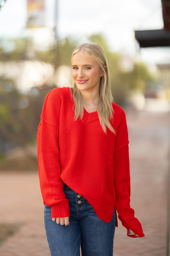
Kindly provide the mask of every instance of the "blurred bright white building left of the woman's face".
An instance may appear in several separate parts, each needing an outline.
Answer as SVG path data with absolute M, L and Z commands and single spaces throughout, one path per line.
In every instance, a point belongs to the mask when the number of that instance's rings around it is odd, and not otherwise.
M 55 70 L 51 64 L 39 61 L 0 62 L 0 77 L 13 81 L 22 93 L 44 84 L 71 87 L 70 67 L 62 65 Z

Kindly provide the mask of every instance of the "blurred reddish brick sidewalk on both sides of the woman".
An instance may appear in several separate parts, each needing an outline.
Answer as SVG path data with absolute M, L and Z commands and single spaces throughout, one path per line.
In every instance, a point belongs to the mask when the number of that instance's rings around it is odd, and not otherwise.
M 119 221 L 114 256 L 166 256 L 170 114 L 127 114 L 131 207 L 145 237 L 129 238 Z M 21 227 L 0 247 L 1 256 L 50 256 L 38 172 L 0 172 L 0 222 Z M 107 256 L 107 255 L 103 255 Z

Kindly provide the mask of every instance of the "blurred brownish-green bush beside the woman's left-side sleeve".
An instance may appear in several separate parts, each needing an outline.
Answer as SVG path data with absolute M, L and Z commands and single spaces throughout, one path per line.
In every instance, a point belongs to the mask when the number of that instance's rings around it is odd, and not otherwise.
M 36 94 L 30 91 L 24 95 L 15 89 L 13 81 L 0 78 L 1 153 L 11 146 L 25 146 L 35 140 L 43 102 L 51 89 L 36 88 Z

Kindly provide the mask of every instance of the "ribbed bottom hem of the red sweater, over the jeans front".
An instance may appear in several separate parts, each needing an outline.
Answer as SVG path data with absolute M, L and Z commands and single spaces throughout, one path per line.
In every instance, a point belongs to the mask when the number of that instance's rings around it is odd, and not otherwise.
M 101 220 L 105 222 L 111 221 L 114 212 L 113 204 L 100 202 L 87 196 L 85 197 L 85 199 L 92 205 L 95 213 Z

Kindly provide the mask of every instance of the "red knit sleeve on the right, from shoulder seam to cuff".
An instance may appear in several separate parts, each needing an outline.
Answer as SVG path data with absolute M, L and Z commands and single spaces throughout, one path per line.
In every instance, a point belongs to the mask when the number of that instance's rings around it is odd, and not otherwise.
M 130 171 L 129 171 L 129 146 L 126 145 L 114 154 L 114 185 L 115 206 L 118 218 L 122 225 L 131 229 L 139 237 L 143 237 L 141 223 L 134 216 L 134 210 L 130 208 Z M 128 233 L 127 233 L 128 235 Z M 136 237 L 132 235 L 130 237 Z

